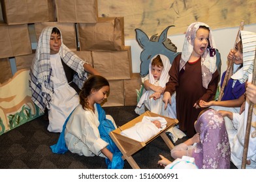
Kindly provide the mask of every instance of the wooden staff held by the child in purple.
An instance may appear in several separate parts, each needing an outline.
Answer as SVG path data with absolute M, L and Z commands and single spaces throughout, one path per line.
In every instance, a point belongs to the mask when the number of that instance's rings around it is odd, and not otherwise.
M 240 27 L 239 27 L 239 30 L 237 32 L 237 35 L 236 35 L 236 41 L 234 42 L 234 47 L 233 49 L 236 48 L 236 43 L 238 41 L 238 38 L 240 36 L 240 31 L 242 31 L 244 29 L 244 20 L 241 21 L 240 23 Z M 219 98 L 218 98 L 218 101 L 221 101 L 222 97 L 223 97 L 223 92 L 224 92 L 224 88 L 225 86 L 227 85 L 227 80 L 231 77 L 231 70 L 232 70 L 232 67 L 233 67 L 233 64 L 234 64 L 234 61 L 230 60 L 229 63 L 228 63 L 228 66 L 227 66 L 227 71 L 226 71 L 226 74 L 225 74 L 225 77 L 223 79 L 223 83 L 222 83 L 222 86 L 221 86 L 221 90 L 219 92 Z

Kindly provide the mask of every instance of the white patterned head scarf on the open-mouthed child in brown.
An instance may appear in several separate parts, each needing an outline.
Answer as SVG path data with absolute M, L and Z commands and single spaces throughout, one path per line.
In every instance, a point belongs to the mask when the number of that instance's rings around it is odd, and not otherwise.
M 208 84 L 212 79 L 212 74 L 216 72 L 216 45 L 214 42 L 214 37 L 212 36 L 212 31 L 208 25 L 202 22 L 195 22 L 189 25 L 187 32 L 185 34 L 185 41 L 182 49 L 182 58 L 180 60 L 180 70 L 182 68 L 185 70 L 185 64 L 189 60 L 191 53 L 193 52 L 194 40 L 197 34 L 197 30 L 200 26 L 208 27 L 209 32 L 209 45 L 204 51 L 204 54 L 201 57 L 201 66 L 202 66 L 202 86 L 208 88 Z

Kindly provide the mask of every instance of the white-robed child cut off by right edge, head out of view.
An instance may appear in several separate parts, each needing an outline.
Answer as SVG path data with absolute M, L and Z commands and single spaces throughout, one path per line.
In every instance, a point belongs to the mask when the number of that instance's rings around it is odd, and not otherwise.
M 255 36 L 256 38 L 256 36 Z M 251 75 L 249 75 L 248 81 L 251 81 Z M 253 88 L 251 83 L 248 83 L 249 88 Z M 237 168 L 242 167 L 242 157 L 244 152 L 244 141 L 246 138 L 246 125 L 248 120 L 248 110 L 249 110 L 249 101 L 253 103 L 253 112 L 251 116 L 251 128 L 249 134 L 249 144 L 248 144 L 248 153 L 246 159 L 246 168 L 253 169 L 256 168 L 256 106 L 254 99 L 256 93 L 256 87 L 254 90 L 250 90 L 246 88 L 246 95 L 253 96 L 252 98 L 246 98 L 246 108 L 242 114 L 238 114 L 235 112 L 230 112 L 226 110 L 219 110 L 219 113 L 223 117 L 229 118 L 232 123 L 234 129 L 232 132 L 229 132 L 229 142 L 231 145 L 231 161 Z M 254 95 L 253 95 L 254 93 Z M 252 94 L 252 95 L 251 95 Z

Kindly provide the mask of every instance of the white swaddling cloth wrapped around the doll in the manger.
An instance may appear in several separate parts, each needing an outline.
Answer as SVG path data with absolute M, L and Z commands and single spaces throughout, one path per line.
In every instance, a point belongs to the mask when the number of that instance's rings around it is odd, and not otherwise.
M 161 123 L 160 128 L 152 123 L 155 120 L 158 120 Z M 165 127 L 167 127 L 167 120 L 165 120 L 165 118 L 144 116 L 141 122 L 136 123 L 133 127 L 121 131 L 121 135 L 139 142 L 146 142 L 146 140 L 157 135 L 157 133 L 165 129 Z

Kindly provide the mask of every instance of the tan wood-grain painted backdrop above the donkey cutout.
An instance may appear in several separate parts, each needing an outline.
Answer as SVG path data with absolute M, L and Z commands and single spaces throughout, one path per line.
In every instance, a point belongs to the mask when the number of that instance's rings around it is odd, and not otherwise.
M 212 29 L 256 23 L 255 0 L 98 0 L 99 17 L 123 16 L 125 39 L 135 39 L 135 29 L 147 34 L 175 25 L 170 34 L 181 34 L 194 21 Z

